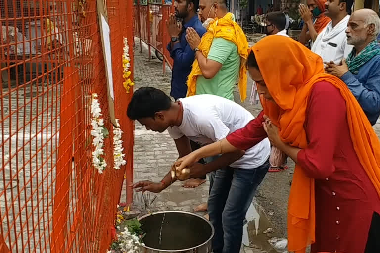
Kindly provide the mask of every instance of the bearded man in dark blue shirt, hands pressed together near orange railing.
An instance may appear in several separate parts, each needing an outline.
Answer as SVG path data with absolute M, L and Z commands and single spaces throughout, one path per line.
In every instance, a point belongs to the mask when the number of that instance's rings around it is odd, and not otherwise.
M 196 14 L 198 6 L 199 0 L 176 0 L 174 1 L 175 15 L 170 14 L 169 20 L 166 21 L 171 37 L 167 49 L 174 60 L 170 92 L 174 99 L 186 97 L 188 90 L 186 81 L 195 58 L 194 51 L 185 38 L 186 29 L 194 28 L 199 36 L 206 32 Z M 177 18 L 182 19 L 182 24 L 177 23 Z

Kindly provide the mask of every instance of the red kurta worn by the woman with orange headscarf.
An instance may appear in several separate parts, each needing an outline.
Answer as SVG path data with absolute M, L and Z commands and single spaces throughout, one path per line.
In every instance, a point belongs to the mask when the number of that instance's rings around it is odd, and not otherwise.
M 243 150 L 260 142 L 267 136 L 263 115 L 227 140 Z M 316 179 L 312 252 L 364 253 L 373 212 L 380 213 L 380 198 L 356 155 L 345 101 L 332 84 L 314 84 L 304 127 L 309 144 L 297 160 Z

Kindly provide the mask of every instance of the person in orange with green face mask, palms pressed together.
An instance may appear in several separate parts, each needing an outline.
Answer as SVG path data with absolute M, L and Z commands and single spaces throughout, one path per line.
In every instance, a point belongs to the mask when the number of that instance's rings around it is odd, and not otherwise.
M 307 0 L 307 6 L 298 6 L 304 21 L 298 41 L 303 45 L 310 39 L 314 42 L 318 34 L 331 22 L 331 19 L 325 16 L 325 2 L 326 0 Z M 314 22 L 313 16 L 316 18 Z

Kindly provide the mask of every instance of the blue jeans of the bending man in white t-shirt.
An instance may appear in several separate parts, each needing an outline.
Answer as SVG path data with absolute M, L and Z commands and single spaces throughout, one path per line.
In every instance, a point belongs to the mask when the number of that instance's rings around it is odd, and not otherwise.
M 240 252 L 245 214 L 269 166 L 268 160 L 257 168 L 227 167 L 215 172 L 208 197 L 208 214 L 215 228 L 214 253 Z

